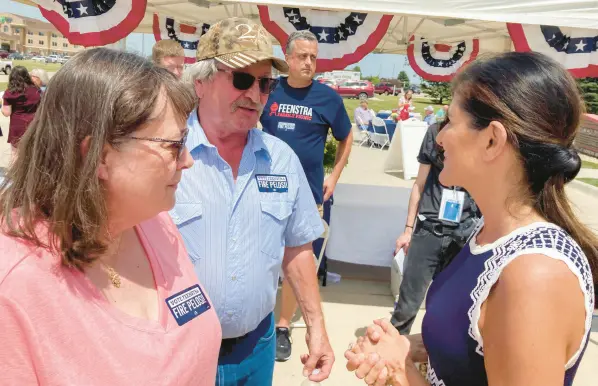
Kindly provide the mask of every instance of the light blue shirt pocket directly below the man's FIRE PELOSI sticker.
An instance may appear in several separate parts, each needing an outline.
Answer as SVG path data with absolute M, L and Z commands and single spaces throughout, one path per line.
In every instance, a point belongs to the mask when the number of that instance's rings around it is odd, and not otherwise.
M 262 200 L 260 243 L 262 252 L 273 259 L 280 259 L 284 251 L 284 234 L 293 213 L 293 203 L 283 200 Z

